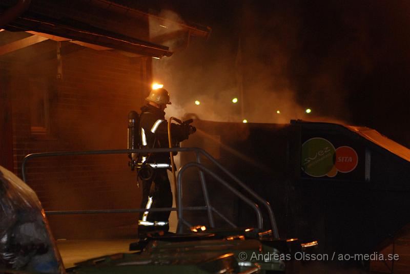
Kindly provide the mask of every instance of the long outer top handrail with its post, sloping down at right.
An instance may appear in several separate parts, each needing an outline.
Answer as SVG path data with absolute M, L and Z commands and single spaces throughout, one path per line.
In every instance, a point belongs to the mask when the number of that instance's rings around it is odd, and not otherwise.
M 241 186 L 245 191 L 247 191 L 249 194 L 251 194 L 256 200 L 261 202 L 268 209 L 268 214 L 269 214 L 273 234 L 274 234 L 275 238 L 279 238 L 275 216 L 274 216 L 273 210 L 272 210 L 269 202 L 263 200 L 258 194 L 256 194 L 254 191 L 252 191 L 251 188 L 249 188 L 247 185 L 245 185 L 243 182 L 241 182 L 236 176 L 234 176 L 231 172 L 229 172 L 226 168 L 224 168 L 220 163 L 218 163 L 216 161 L 216 159 L 213 158 L 209 153 L 207 153 L 206 151 L 200 149 L 199 147 L 174 147 L 172 149 L 170 149 L 170 148 L 159 148 L 159 149 L 135 149 L 135 150 L 99 150 L 99 151 L 71 151 L 71 152 L 70 151 L 64 151 L 64 152 L 32 153 L 32 154 L 27 155 L 23 159 L 23 162 L 22 162 L 22 177 L 23 177 L 23 181 L 26 181 L 26 163 L 27 163 L 28 160 L 30 160 L 32 158 L 50 157 L 50 156 L 105 155 L 105 154 L 128 154 L 128 153 L 166 153 L 166 152 L 168 152 L 168 153 L 170 153 L 170 152 L 196 152 L 196 156 L 197 156 L 196 158 L 197 158 L 197 162 L 198 162 L 197 167 L 199 168 L 199 171 L 200 171 L 200 179 L 201 179 L 201 184 L 202 184 L 202 188 L 203 188 L 202 190 L 203 190 L 203 193 L 204 193 L 204 198 L 206 200 L 206 205 L 207 205 L 207 210 L 208 210 L 208 217 L 209 217 L 209 220 L 210 220 L 211 227 L 213 226 L 212 210 L 215 211 L 216 209 L 213 208 L 210 205 L 209 198 L 207 197 L 208 196 L 208 191 L 206 189 L 206 184 L 204 183 L 203 173 L 201 173 L 202 172 L 201 170 L 206 171 L 207 169 L 203 169 L 204 166 L 200 164 L 199 154 L 202 154 L 205 157 L 207 157 L 211 162 L 213 162 L 216 166 L 218 166 L 220 168 L 220 170 L 222 170 L 229 177 L 231 177 L 231 179 L 233 179 L 239 186 Z M 214 173 L 212 172 L 212 174 L 214 174 Z M 219 180 L 219 179 L 217 179 L 217 180 Z M 232 187 L 232 186 L 230 186 L 230 187 Z M 236 191 L 236 189 L 235 189 L 235 191 Z

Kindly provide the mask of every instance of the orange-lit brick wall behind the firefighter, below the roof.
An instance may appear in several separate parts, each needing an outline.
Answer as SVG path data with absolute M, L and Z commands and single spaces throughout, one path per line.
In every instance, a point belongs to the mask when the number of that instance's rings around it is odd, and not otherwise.
M 45 50 L 49 44 L 53 52 L 56 42 L 46 42 L 20 50 L 18 54 L 35 51 L 37 58 L 9 69 L 14 172 L 19 176 L 29 153 L 126 149 L 127 114 L 138 111 L 149 92 L 149 57 L 129 58 L 63 42 L 63 73 L 56 79 L 57 60 Z M 28 89 L 33 80 L 47 88 L 48 134 L 31 132 Z M 27 165 L 27 183 L 45 210 L 136 208 L 141 193 L 127 162 L 125 154 L 34 159 Z M 57 239 L 102 238 L 135 235 L 137 217 L 49 216 L 49 221 Z

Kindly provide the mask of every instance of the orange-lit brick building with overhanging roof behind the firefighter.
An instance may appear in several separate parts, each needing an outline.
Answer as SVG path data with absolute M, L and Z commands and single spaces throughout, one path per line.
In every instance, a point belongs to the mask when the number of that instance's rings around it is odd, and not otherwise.
M 0 11 L 14 4 L 2 1 Z M 0 32 L 0 165 L 18 176 L 30 153 L 125 149 L 127 114 L 149 93 L 152 57 L 172 55 L 158 43 L 209 35 L 105 0 L 33 0 L 15 15 Z M 167 24 L 173 31 L 162 31 Z M 136 208 L 141 194 L 127 162 L 126 155 L 36 159 L 27 183 L 45 210 Z M 100 238 L 135 235 L 136 218 L 49 221 L 56 238 Z

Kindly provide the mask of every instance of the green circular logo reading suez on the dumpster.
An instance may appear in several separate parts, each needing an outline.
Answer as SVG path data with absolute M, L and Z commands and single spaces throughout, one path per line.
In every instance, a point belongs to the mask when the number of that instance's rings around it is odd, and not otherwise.
M 302 170 L 312 177 L 322 177 L 334 166 L 335 147 L 324 138 L 311 138 L 302 144 Z

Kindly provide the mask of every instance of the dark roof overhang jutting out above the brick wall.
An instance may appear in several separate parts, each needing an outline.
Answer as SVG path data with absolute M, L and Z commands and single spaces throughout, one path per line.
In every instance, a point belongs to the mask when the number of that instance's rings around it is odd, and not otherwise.
M 16 1 L 3 0 L 0 13 L 5 14 L 15 6 Z M 210 28 L 195 28 L 105 0 L 32 0 L 22 14 L 15 16 L 4 29 L 27 31 L 56 41 L 68 40 L 96 50 L 114 49 L 129 56 L 171 56 L 169 47 L 158 43 L 187 34 L 207 38 L 211 32 Z M 178 25 L 178 31 L 149 41 L 148 20 Z

